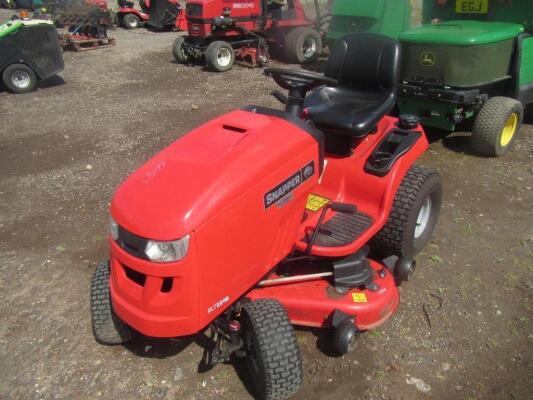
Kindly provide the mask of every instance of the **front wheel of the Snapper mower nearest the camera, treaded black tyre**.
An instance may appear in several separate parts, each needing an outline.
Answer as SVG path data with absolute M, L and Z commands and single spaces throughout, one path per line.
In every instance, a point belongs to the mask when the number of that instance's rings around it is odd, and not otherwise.
M 245 303 L 242 312 L 246 363 L 259 398 L 287 399 L 302 385 L 302 361 L 294 330 L 276 300 Z

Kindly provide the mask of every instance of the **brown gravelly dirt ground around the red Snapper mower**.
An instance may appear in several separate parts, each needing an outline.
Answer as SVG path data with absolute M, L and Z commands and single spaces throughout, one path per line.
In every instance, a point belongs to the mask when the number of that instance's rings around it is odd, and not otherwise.
M 36 92 L 0 91 L 0 399 L 251 398 L 239 365 L 198 372 L 201 338 L 95 343 L 89 284 L 117 185 L 203 121 L 278 107 L 275 85 L 259 69 L 175 64 L 175 33 L 111 34 L 116 47 L 65 53 Z M 327 333 L 298 330 L 295 399 L 531 398 L 533 126 L 504 158 L 471 154 L 459 134 L 421 163 L 442 174 L 444 206 L 397 314 L 344 357 Z

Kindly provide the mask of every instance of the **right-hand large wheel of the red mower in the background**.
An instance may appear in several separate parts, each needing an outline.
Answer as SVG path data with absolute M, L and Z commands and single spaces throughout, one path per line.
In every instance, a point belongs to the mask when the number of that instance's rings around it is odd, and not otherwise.
M 322 38 L 311 28 L 296 28 L 285 39 L 285 58 L 288 62 L 303 64 L 314 62 L 322 53 Z

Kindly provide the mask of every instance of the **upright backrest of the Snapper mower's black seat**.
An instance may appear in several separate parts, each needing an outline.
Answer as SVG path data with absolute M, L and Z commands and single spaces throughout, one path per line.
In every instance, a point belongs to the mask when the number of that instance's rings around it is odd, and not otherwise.
M 351 33 L 333 47 L 326 76 L 361 92 L 394 93 L 400 74 L 400 43 L 375 33 Z

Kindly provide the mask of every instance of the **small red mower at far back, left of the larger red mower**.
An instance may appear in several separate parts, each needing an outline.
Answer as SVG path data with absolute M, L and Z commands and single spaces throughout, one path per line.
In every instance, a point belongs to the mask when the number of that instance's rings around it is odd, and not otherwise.
M 187 21 L 178 0 L 139 0 L 141 10 L 134 8 L 134 3 L 118 0 L 118 23 L 126 29 L 135 29 L 148 25 L 157 30 L 187 29 Z

